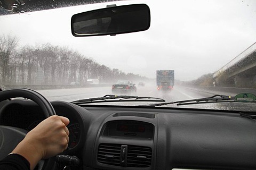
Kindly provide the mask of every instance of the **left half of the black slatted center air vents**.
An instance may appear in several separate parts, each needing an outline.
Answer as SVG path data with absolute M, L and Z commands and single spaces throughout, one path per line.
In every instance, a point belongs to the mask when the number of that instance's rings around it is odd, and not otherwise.
M 98 148 L 98 162 L 109 165 L 120 165 L 121 145 L 101 143 Z

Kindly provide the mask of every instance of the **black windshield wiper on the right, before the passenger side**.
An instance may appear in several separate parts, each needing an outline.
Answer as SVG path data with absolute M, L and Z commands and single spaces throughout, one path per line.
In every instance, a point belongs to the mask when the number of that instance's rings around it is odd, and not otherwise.
M 202 103 L 227 102 L 227 100 L 230 100 L 231 102 L 232 101 L 235 102 L 234 97 L 225 96 L 225 95 L 214 95 L 214 96 L 206 97 L 206 98 L 172 101 L 172 102 L 158 103 L 158 104 L 152 104 L 152 105 L 146 105 L 146 106 L 154 107 L 154 106 L 164 106 L 164 105 L 170 105 L 170 104 L 177 104 L 177 106 L 179 106 L 179 105 L 191 105 L 191 104 L 202 104 Z

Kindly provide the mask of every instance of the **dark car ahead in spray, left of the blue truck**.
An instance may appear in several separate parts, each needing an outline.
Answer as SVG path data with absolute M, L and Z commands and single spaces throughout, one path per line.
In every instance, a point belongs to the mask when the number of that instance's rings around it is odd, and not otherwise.
M 132 94 L 137 92 L 135 84 L 129 80 L 118 80 L 115 84 L 112 85 L 111 90 L 113 94 Z

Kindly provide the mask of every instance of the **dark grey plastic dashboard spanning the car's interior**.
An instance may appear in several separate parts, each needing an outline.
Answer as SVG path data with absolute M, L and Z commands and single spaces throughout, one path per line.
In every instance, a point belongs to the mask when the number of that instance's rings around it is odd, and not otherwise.
M 230 111 L 77 106 L 52 101 L 70 120 L 71 169 L 255 169 L 256 123 Z M 44 119 L 30 100 L 0 107 L 0 125 L 30 131 Z

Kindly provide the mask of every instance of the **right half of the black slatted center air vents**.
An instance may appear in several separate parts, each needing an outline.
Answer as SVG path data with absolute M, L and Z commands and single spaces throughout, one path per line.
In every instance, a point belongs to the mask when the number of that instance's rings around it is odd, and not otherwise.
M 126 166 L 149 167 L 151 164 L 151 157 L 151 148 L 128 145 Z

